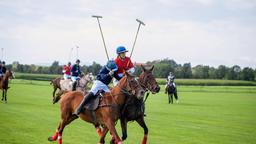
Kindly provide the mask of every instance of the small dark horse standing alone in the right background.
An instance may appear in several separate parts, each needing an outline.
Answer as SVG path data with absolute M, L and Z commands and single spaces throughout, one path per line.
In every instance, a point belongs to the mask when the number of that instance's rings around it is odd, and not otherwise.
M 176 102 L 177 103 L 179 102 L 178 101 L 177 88 L 174 86 L 173 82 L 170 82 L 169 84 L 167 84 L 166 89 L 165 89 L 165 93 L 167 93 L 169 103 L 173 104 L 173 96 L 176 99 Z

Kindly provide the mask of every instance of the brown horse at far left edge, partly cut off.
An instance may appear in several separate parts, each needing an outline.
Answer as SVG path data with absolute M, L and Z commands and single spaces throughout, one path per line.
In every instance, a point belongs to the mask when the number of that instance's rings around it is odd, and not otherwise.
M 2 101 L 7 103 L 7 90 L 9 89 L 9 79 L 13 79 L 14 75 L 11 70 L 7 70 L 3 77 L 0 79 L 0 89 L 3 91 Z

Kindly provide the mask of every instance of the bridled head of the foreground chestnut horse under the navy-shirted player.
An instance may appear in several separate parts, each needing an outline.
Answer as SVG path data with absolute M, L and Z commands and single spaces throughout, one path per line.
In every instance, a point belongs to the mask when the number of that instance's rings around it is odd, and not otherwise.
M 119 81 L 117 86 L 119 86 L 121 91 L 125 94 L 135 96 L 137 99 L 144 98 L 145 90 L 141 87 L 135 77 L 128 72 L 124 73 L 123 78 Z

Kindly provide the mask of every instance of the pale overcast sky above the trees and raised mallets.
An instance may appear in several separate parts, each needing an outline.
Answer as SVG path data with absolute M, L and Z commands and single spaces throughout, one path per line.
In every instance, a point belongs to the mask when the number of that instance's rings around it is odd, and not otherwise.
M 124 45 L 132 60 L 169 58 L 217 67 L 256 68 L 256 0 L 0 0 L 1 59 L 26 64 L 107 60 Z M 78 46 L 79 48 L 77 48 Z M 73 49 L 73 50 L 72 50 Z M 3 52 L 3 53 L 2 53 Z

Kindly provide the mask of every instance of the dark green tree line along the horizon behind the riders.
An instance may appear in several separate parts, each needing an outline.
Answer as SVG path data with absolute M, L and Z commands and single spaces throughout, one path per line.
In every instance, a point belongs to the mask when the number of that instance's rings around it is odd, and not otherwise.
M 169 72 L 173 72 L 176 78 L 186 79 L 228 79 L 228 80 L 256 80 L 256 69 L 250 67 L 241 68 L 238 65 L 228 67 L 219 65 L 217 68 L 208 65 L 197 65 L 192 67 L 191 63 L 178 64 L 172 59 L 162 59 L 149 61 L 146 65 L 154 65 L 154 75 L 157 78 L 166 78 Z M 51 66 L 37 66 L 34 64 L 20 64 L 13 62 L 7 65 L 7 68 L 15 72 L 21 73 L 37 73 L 37 74 L 62 74 L 63 65 L 58 61 L 54 61 Z M 85 73 L 92 72 L 96 75 L 102 66 L 96 62 L 91 65 L 81 66 L 81 70 Z M 135 67 L 135 75 L 141 73 L 140 67 Z

